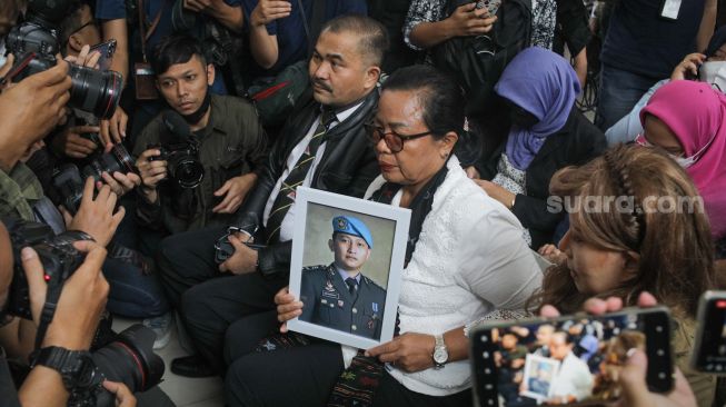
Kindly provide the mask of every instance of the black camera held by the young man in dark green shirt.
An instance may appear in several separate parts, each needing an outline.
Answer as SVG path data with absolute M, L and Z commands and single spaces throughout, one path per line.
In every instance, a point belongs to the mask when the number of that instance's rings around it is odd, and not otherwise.
M 196 140 L 152 146 L 161 152 L 150 161 L 167 161 L 169 179 L 181 188 L 197 188 L 205 179 L 205 167 L 199 160 L 199 147 Z

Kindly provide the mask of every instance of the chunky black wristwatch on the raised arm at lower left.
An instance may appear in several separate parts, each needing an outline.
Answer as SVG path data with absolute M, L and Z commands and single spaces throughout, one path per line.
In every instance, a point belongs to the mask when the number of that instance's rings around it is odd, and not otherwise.
M 49 346 L 30 354 L 30 368 L 37 365 L 58 371 L 68 391 L 88 388 L 97 383 L 98 376 L 101 375 L 96 369 L 96 364 L 89 351 L 69 350 L 58 346 Z

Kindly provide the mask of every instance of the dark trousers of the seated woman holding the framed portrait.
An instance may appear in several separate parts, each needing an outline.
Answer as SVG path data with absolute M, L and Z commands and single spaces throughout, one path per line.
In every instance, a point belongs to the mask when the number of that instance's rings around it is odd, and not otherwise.
M 256 353 L 270 329 L 277 329 L 276 311 L 258 314 L 227 330 L 225 354 L 230 364 L 225 379 L 227 406 L 325 406 L 344 370 L 340 345 L 314 340 L 308 346 Z M 432 397 L 411 391 L 387 371 L 374 406 L 471 406 L 471 391 Z

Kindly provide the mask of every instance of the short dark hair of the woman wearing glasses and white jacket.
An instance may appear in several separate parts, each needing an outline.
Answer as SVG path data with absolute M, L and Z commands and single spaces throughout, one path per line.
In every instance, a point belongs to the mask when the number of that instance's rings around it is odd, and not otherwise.
M 414 64 L 395 71 L 381 86 L 381 92 L 415 91 L 421 108 L 424 123 L 442 138 L 447 132 L 464 133 L 466 98 L 461 87 L 450 77 L 427 64 Z

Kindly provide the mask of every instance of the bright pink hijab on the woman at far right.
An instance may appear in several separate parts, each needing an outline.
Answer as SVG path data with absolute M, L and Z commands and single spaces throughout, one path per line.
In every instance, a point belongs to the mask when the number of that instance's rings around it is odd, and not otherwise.
M 726 96 L 708 83 L 677 80 L 658 89 L 640 111 L 663 120 L 676 135 L 685 157 L 700 153 L 686 169 L 704 198 L 715 238 L 726 235 Z M 710 142 L 710 145 L 709 145 Z

